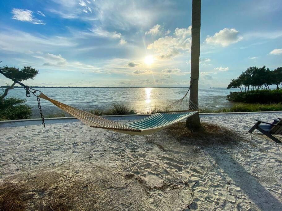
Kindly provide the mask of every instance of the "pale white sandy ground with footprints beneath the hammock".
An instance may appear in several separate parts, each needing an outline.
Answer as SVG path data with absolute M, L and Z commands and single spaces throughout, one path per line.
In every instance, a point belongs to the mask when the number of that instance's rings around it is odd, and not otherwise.
M 77 120 L 49 120 L 46 129 L 39 121 L 0 124 L 0 181 L 56 182 L 38 184 L 36 197 L 47 197 L 52 188 L 67 194 L 66 184 L 80 185 L 81 209 L 92 203 L 102 210 L 182 210 L 193 201 L 192 210 L 281 210 L 282 145 L 258 131 L 246 133 L 254 118 L 281 116 L 202 115 L 240 137 L 223 144 L 178 140 L 167 130 L 132 136 Z

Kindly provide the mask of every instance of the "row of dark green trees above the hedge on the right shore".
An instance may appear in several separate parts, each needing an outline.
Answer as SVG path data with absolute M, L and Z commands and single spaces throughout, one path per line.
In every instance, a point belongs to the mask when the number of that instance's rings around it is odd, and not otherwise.
M 246 71 L 236 78 L 232 79 L 228 84 L 230 88 L 240 88 L 241 92 L 258 91 L 260 89 L 269 90 L 270 85 L 276 85 L 276 89 L 280 89 L 282 84 L 282 67 L 275 70 L 269 70 L 265 66 L 249 67 Z

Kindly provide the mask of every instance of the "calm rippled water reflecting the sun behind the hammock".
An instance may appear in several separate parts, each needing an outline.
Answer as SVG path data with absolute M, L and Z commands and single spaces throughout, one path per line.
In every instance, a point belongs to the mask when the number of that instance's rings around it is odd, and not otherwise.
M 188 88 L 40 88 L 40 90 L 52 99 L 83 110 L 106 109 L 112 103 L 123 103 L 138 112 L 147 112 L 155 106 L 167 105 L 182 98 Z M 234 103 L 226 100 L 226 95 L 230 91 L 237 90 L 200 88 L 199 107 L 210 109 L 231 107 Z M 23 88 L 10 90 L 8 97 L 12 96 L 27 99 L 27 104 L 33 107 L 32 117 L 39 116 L 36 97 L 32 95 L 26 98 Z M 41 99 L 41 107 L 45 116 L 60 111 L 44 99 Z

